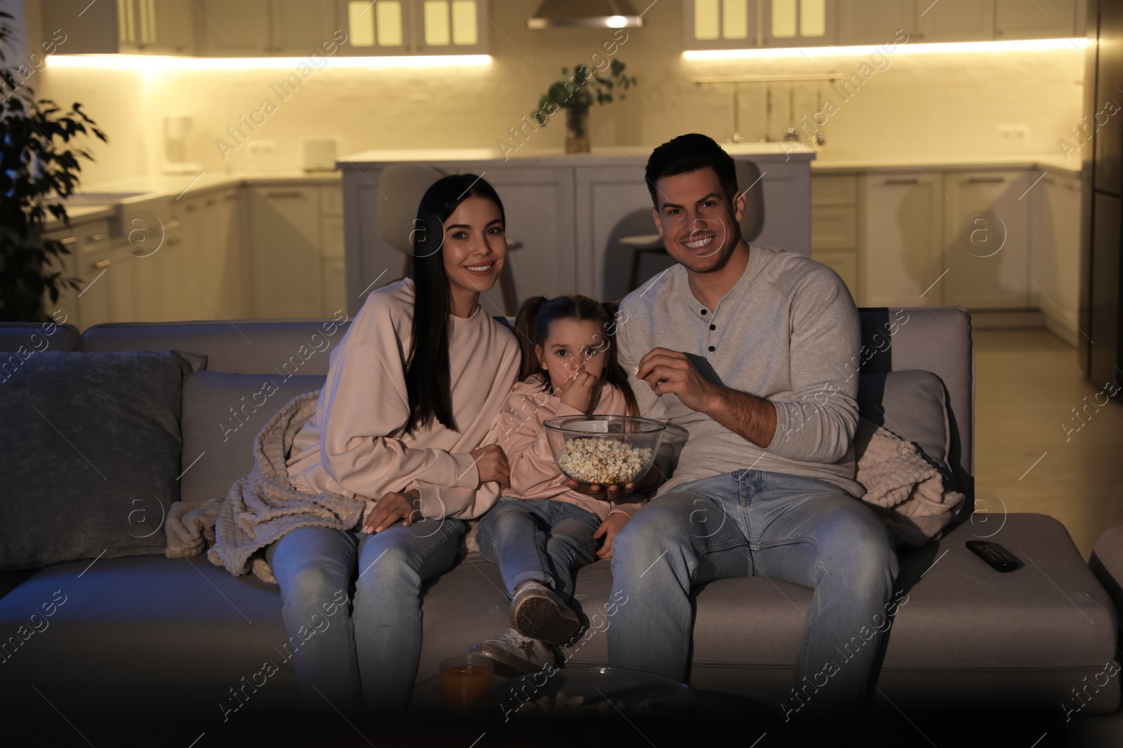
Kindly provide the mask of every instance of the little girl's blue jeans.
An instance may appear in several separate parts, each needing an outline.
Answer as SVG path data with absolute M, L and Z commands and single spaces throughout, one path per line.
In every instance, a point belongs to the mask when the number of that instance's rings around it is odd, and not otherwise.
M 600 526 L 600 517 L 574 504 L 503 498 L 480 520 L 476 538 L 484 558 L 499 563 L 508 594 L 537 579 L 572 603 L 573 573 L 596 561 Z

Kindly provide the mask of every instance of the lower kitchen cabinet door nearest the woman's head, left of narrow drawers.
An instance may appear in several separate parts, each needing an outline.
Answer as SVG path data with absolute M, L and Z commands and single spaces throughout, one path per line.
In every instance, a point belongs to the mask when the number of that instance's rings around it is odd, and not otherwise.
M 250 287 L 257 318 L 319 317 L 319 195 L 316 187 L 250 187 Z

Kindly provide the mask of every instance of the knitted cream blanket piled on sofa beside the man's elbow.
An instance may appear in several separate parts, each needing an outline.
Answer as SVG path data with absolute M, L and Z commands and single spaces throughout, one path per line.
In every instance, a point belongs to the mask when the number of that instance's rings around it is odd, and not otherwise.
M 967 498 L 943 490 L 943 475 L 920 450 L 893 432 L 860 418 L 853 437 L 858 497 L 882 516 L 898 546 L 920 547 L 939 537 Z

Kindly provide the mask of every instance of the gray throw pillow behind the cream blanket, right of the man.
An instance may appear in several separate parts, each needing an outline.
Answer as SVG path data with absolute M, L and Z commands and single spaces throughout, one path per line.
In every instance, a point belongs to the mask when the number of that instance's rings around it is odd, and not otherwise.
M 951 430 L 943 380 L 931 371 L 905 369 L 859 375 L 858 414 L 915 444 L 958 490 L 948 465 Z M 865 445 L 856 445 L 860 451 Z

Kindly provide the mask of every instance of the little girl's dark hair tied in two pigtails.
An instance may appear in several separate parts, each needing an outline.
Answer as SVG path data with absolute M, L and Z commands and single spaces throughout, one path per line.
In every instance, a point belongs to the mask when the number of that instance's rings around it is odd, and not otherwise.
M 545 296 L 531 296 L 519 307 L 519 315 L 514 318 L 514 329 L 519 333 L 519 348 L 522 349 L 522 367 L 519 369 L 519 380 L 526 380 L 536 373 L 542 373 L 542 366 L 538 360 L 536 345 L 546 347 L 546 339 L 550 334 L 550 325 L 557 320 L 576 320 L 577 322 L 595 322 L 602 332 L 600 339 L 594 343 L 597 349 L 608 347 L 608 357 L 604 362 L 604 371 L 601 379 L 612 385 L 624 396 L 628 405 L 628 415 L 638 416 L 639 406 L 636 404 L 636 396 L 632 394 L 631 385 L 628 384 L 628 375 L 624 373 L 620 361 L 617 359 L 617 310 L 615 302 L 601 303 L 595 298 L 575 294 L 573 296 L 556 296 L 547 299 Z M 550 389 L 549 377 L 542 375 L 546 380 L 544 390 Z

